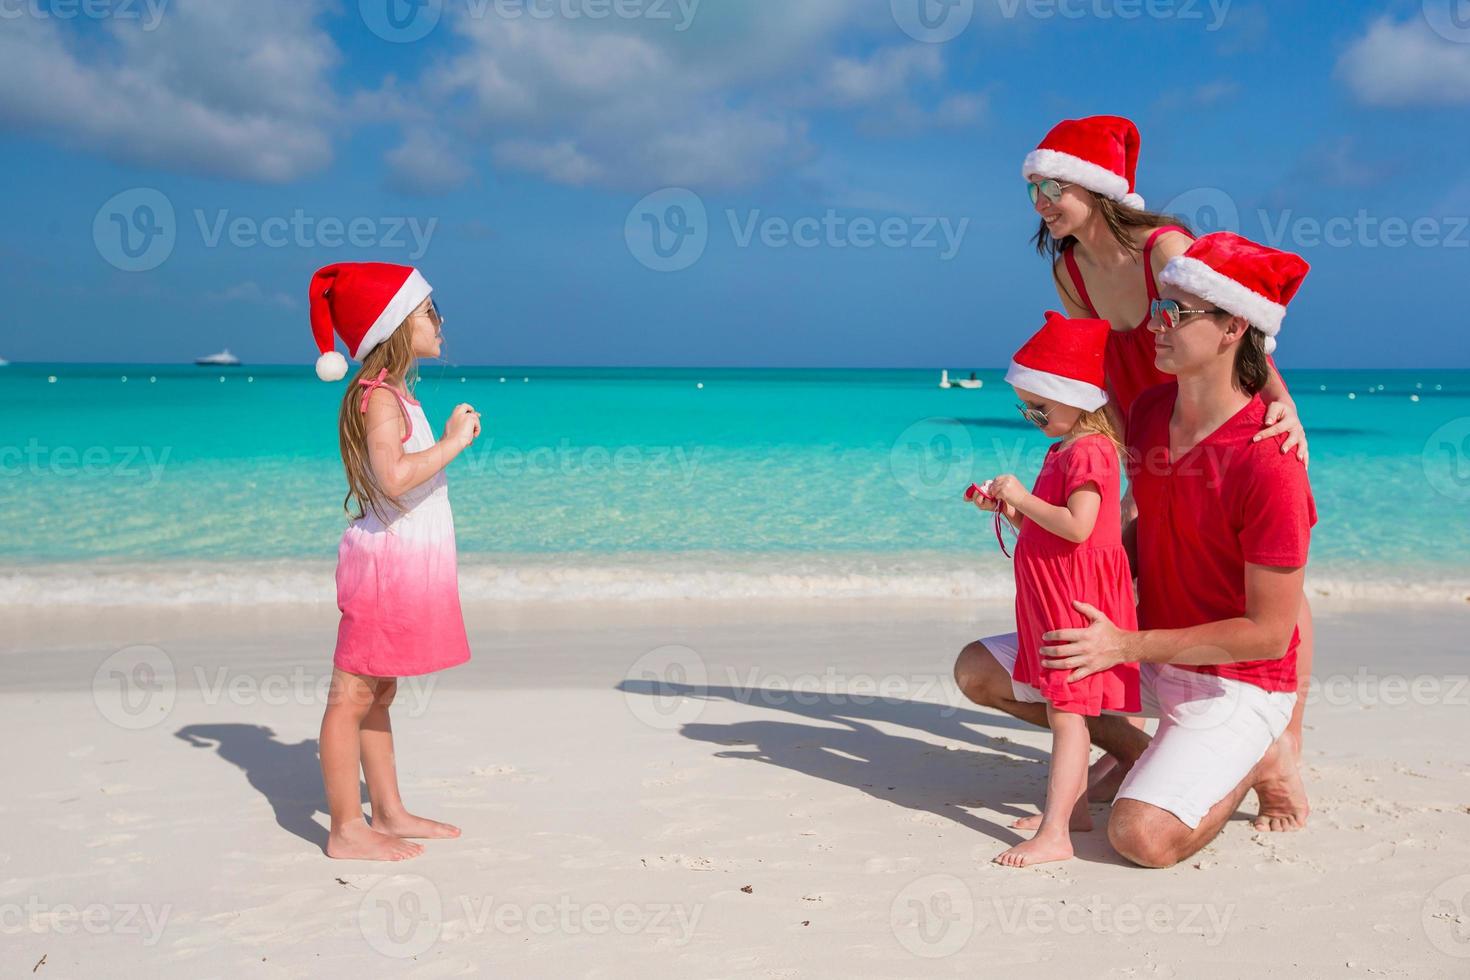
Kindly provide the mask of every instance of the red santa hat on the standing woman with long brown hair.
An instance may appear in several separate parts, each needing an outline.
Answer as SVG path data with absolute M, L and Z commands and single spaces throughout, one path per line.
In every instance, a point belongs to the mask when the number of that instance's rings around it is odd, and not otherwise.
M 1133 192 L 1138 176 L 1138 126 L 1123 116 L 1063 119 L 1026 154 L 1020 173 L 1078 184 L 1119 204 L 1142 210 Z

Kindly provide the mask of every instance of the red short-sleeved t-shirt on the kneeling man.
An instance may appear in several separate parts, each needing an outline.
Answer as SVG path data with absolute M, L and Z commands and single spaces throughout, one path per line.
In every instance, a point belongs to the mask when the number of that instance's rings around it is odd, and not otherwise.
M 1183 629 L 1245 616 L 1245 566 L 1307 564 L 1317 505 L 1307 467 L 1261 430 L 1260 395 L 1179 460 L 1169 419 L 1179 385 L 1150 388 L 1129 413 L 1129 478 L 1138 502 L 1138 626 Z M 1297 630 L 1280 660 L 1191 667 L 1267 691 L 1297 691 Z

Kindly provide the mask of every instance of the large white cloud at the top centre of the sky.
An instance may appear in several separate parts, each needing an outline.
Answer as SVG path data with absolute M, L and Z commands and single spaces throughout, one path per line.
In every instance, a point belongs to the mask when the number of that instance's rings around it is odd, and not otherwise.
M 460 162 L 488 148 L 497 167 L 622 190 L 759 184 L 813 157 L 817 112 L 856 113 L 864 132 L 881 135 L 983 115 L 976 93 L 936 91 L 928 104 L 916 96 L 944 81 L 939 46 L 836 53 L 844 32 L 897 32 L 858 7 L 704 4 L 686 32 L 460 13 L 450 22 L 460 50 L 417 79 L 410 101 L 454 132 L 444 153 Z M 404 156 L 390 163 L 404 181 Z

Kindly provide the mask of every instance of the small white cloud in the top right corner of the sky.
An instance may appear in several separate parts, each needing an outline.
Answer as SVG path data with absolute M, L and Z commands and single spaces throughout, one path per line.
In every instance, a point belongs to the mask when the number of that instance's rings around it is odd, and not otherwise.
M 1369 106 L 1470 103 L 1470 44 L 1445 40 L 1419 18 L 1379 18 L 1344 51 L 1336 71 Z

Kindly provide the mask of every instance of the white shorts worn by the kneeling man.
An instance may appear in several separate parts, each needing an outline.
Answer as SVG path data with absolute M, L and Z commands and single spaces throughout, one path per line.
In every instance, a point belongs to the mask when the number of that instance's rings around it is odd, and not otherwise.
M 1016 633 L 980 641 L 1007 673 L 1016 671 Z M 1014 677 L 1017 701 L 1045 704 Z M 1291 721 L 1297 693 L 1169 664 L 1139 666 L 1142 716 L 1158 718 L 1152 742 L 1123 779 L 1116 799 L 1167 810 L 1191 830 L 1225 799 Z

